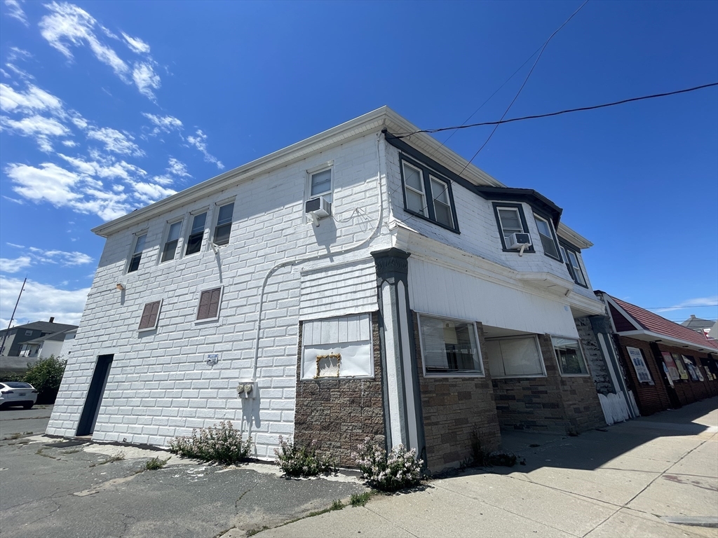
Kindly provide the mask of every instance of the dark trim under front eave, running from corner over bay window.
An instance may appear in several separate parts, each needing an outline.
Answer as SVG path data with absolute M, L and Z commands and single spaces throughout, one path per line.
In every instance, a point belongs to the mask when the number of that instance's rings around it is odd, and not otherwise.
M 475 185 L 470 181 L 462 178 L 459 174 L 455 174 L 451 170 L 447 169 L 446 166 L 437 163 L 434 159 L 421 153 L 408 143 L 396 138 L 393 134 L 386 131 L 382 131 L 386 138 L 386 141 L 395 148 L 404 151 L 405 154 L 414 157 L 414 159 L 423 162 L 427 166 L 435 169 L 437 172 L 444 174 L 447 178 L 451 179 L 455 183 L 461 185 L 465 189 L 468 189 L 475 194 L 478 194 L 483 199 L 495 201 L 495 202 L 526 202 L 529 204 L 538 214 L 542 217 L 548 218 L 554 222 L 554 227 L 559 226 L 561 220 L 561 213 L 563 209 L 558 207 L 554 202 L 551 202 L 543 194 L 539 194 L 533 189 L 514 189 L 511 187 L 489 187 L 488 185 Z

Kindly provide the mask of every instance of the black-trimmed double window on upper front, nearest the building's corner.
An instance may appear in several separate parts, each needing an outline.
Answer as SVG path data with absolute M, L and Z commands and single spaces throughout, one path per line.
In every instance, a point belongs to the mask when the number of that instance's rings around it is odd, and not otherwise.
M 406 211 L 454 232 L 459 231 L 451 181 L 419 162 L 402 157 L 401 183 Z

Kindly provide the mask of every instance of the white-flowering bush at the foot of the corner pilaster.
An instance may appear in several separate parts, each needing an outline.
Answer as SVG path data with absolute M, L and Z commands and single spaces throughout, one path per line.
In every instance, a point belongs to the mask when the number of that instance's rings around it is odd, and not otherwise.
M 396 445 L 387 454 L 375 440 L 365 438 L 352 453 L 359 470 L 370 486 L 382 491 L 410 488 L 421 482 L 424 461 L 416 458 L 416 450 Z

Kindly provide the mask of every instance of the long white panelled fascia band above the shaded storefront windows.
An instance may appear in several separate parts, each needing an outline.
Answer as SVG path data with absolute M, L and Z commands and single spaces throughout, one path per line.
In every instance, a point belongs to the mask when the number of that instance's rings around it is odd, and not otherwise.
M 415 311 L 535 334 L 578 338 L 571 309 L 466 273 L 409 258 L 409 298 Z

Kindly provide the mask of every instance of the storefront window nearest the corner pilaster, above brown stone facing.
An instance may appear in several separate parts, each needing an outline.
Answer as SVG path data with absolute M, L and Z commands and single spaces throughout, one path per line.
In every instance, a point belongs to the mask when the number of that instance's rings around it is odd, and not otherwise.
M 421 314 L 419 334 L 426 375 L 483 374 L 475 324 Z

